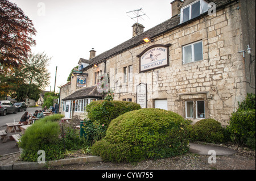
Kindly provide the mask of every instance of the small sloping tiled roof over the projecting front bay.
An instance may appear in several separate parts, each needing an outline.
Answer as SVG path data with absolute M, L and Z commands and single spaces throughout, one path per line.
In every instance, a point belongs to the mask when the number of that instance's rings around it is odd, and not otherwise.
M 73 94 L 65 97 L 62 100 L 75 100 L 75 99 L 84 99 L 84 98 L 96 98 L 101 99 L 101 93 L 97 91 L 97 86 L 85 87 L 83 89 L 79 89 Z

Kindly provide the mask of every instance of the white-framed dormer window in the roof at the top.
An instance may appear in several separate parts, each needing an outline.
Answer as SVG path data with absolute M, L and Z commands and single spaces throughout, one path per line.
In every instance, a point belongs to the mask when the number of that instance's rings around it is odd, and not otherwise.
M 204 0 L 197 0 L 192 2 L 189 5 L 181 8 L 180 23 L 184 23 L 190 19 L 196 18 L 206 11 L 208 11 L 208 3 Z

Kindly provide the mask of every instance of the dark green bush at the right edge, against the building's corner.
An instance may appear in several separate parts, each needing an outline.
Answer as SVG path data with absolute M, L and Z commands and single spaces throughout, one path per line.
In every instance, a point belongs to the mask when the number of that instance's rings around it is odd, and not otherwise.
M 239 146 L 255 149 L 255 94 L 247 94 L 238 102 L 238 110 L 232 113 L 229 126 L 230 137 Z

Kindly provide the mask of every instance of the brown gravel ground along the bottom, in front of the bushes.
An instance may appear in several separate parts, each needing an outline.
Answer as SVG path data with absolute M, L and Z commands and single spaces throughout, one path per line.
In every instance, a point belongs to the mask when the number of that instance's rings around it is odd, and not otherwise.
M 208 163 L 209 155 L 187 153 L 172 158 L 148 159 L 139 163 L 83 163 L 46 168 L 46 170 L 255 170 L 255 151 L 235 148 L 236 154 L 216 156 L 216 163 Z M 19 153 L 0 157 L 0 166 L 19 163 Z M 82 157 L 84 155 L 73 155 Z

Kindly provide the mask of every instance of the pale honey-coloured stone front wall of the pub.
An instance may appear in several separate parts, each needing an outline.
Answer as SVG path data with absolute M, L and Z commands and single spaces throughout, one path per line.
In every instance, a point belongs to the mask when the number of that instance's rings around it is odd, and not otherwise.
M 204 16 L 184 23 L 174 30 L 120 53 L 106 61 L 110 87 L 115 100 L 131 98 L 136 102 L 139 83 L 147 83 L 147 107 L 154 107 L 155 99 L 167 99 L 168 110 L 185 117 L 185 100 L 204 100 L 205 117 L 228 124 L 236 111 L 237 102 L 246 96 L 245 65 L 241 41 L 241 15 L 234 3 L 218 10 L 215 16 Z M 201 40 L 203 60 L 183 64 L 182 47 Z M 171 44 L 170 66 L 139 73 L 138 54 L 155 44 Z M 123 68 L 133 65 L 133 79 L 123 81 Z M 87 72 L 88 87 L 94 84 L 94 72 L 104 70 L 104 63 Z M 193 119 L 197 121 L 199 119 Z

